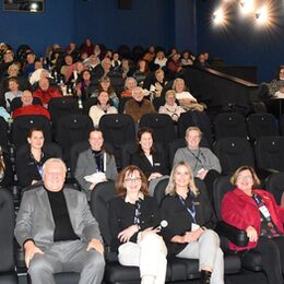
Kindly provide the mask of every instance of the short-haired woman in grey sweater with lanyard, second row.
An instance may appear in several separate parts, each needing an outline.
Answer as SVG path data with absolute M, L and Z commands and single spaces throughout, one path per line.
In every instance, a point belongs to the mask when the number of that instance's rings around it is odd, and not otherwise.
M 189 127 L 186 131 L 187 146 L 178 149 L 174 164 L 187 162 L 192 168 L 193 176 L 204 180 L 210 198 L 213 196 L 213 182 L 220 176 L 221 165 L 218 158 L 208 147 L 201 147 L 202 132 L 198 127 Z

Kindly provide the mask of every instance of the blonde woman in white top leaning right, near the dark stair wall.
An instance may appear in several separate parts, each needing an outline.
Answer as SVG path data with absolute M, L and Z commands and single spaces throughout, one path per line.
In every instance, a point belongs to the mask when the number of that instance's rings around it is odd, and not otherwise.
M 174 81 L 173 90 L 176 92 L 176 98 L 178 99 L 180 106 L 182 106 L 186 110 L 204 110 L 204 106 L 199 104 L 198 100 L 187 91 L 184 79 L 177 78 Z

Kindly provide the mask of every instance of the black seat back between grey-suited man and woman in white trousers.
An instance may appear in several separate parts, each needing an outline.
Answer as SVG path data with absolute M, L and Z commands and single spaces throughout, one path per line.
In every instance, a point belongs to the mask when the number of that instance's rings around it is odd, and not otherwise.
M 115 182 L 97 184 L 91 194 L 91 211 L 98 222 L 100 234 L 106 246 L 110 245 L 111 233 L 108 226 L 109 201 L 116 197 Z

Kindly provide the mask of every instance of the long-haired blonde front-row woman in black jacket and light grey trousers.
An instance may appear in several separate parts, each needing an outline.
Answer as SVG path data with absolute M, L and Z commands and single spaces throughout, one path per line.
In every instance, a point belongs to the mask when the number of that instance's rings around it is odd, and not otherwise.
M 224 260 L 215 232 L 214 214 L 206 192 L 196 187 L 190 166 L 180 162 L 171 170 L 161 216 L 168 255 L 199 259 L 201 284 L 224 284 Z

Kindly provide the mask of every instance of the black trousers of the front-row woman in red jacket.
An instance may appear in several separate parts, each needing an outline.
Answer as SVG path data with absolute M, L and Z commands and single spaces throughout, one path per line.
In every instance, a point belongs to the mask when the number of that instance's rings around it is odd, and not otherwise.
M 284 237 L 260 237 L 255 250 L 259 251 L 269 284 L 283 284 L 284 279 Z

